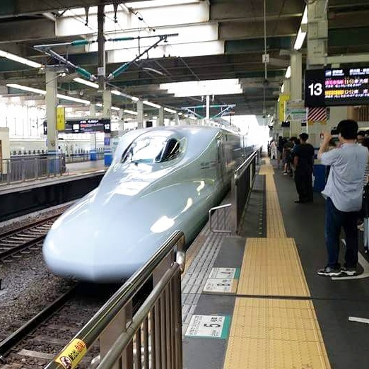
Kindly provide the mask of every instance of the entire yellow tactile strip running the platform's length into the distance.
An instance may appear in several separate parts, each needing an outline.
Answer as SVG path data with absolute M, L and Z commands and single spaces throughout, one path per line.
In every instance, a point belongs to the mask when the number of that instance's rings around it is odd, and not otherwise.
M 293 238 L 287 238 L 274 170 L 266 177 L 266 236 L 249 238 L 242 260 L 224 369 L 330 369 Z M 262 296 L 275 298 L 259 298 Z M 279 299 L 279 296 L 286 298 Z

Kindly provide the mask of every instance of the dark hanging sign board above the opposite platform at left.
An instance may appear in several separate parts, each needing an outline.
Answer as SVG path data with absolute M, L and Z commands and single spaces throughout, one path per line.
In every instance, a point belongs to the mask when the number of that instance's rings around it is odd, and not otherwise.
M 93 133 L 93 132 L 111 132 L 110 119 L 67 119 L 64 133 Z M 47 121 L 44 122 L 44 134 L 47 134 Z

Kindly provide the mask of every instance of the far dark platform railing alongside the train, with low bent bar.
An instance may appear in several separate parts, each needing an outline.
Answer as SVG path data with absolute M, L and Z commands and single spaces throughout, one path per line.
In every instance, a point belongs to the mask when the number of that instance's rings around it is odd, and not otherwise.
M 209 210 L 209 229 L 211 232 L 239 233 L 242 213 L 250 199 L 256 176 L 256 166 L 259 164 L 260 156 L 261 148 L 256 148 L 235 170 L 231 181 L 231 198 L 233 202 L 216 206 Z M 222 217 L 223 220 L 220 221 Z M 230 219 L 231 229 L 227 225 L 227 219 Z M 216 223 L 216 226 L 214 223 Z

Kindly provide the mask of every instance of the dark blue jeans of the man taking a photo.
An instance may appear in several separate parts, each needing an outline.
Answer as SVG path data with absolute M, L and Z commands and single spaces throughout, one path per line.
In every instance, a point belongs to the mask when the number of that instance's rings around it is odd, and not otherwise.
M 358 264 L 358 213 L 339 211 L 328 197 L 325 203 L 325 242 L 328 251 L 328 266 L 339 268 L 339 235 L 344 228 L 346 239 L 346 268 Z

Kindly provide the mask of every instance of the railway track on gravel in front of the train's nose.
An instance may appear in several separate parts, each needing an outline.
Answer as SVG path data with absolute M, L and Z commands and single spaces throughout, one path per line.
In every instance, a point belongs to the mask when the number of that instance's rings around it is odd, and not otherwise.
M 76 283 L 0 342 L 0 369 L 40 369 L 47 365 L 116 289 Z M 87 368 L 98 353 L 96 344 L 80 368 Z

